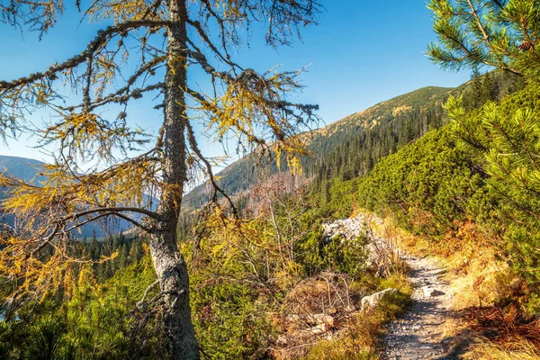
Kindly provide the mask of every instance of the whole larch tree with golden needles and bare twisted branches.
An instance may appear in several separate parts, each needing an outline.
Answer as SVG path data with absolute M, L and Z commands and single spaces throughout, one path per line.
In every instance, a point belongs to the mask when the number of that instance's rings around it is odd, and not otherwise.
M 2 0 L 0 19 L 45 36 L 66 11 L 60 0 Z M 216 139 L 230 133 L 247 149 L 302 154 L 297 136 L 317 120 L 316 105 L 292 103 L 287 94 L 302 86 L 300 72 L 260 74 L 234 62 L 230 50 L 242 43 L 250 23 L 267 25 L 266 42 L 289 44 L 300 28 L 316 23 L 315 0 L 95 0 L 76 1 L 90 22 L 107 23 L 82 52 L 41 72 L 0 81 L 0 133 L 31 133 L 40 146 L 54 148 L 55 161 L 39 183 L 2 175 L 9 197 L 2 211 L 18 226 L 4 229 L 0 269 L 13 284 L 12 302 L 36 298 L 62 285 L 77 258 L 70 250 L 74 231 L 116 218 L 148 234 L 160 287 L 159 302 L 173 359 L 197 359 L 189 280 L 178 251 L 176 226 L 183 193 L 193 171 L 224 194 L 202 155 L 193 121 L 205 121 Z M 130 71 L 127 74 L 127 71 Z M 205 90 L 190 72 L 209 80 Z M 208 90 L 210 89 L 210 90 Z M 153 96 L 163 109 L 158 134 L 130 126 L 129 106 Z M 35 127 L 27 116 L 45 108 L 51 121 Z M 103 110 L 118 110 L 111 118 Z M 144 151 L 140 150 L 144 148 Z M 136 155 L 133 155 L 136 154 Z M 81 164 L 92 164 L 89 168 Z M 151 204 L 157 198 L 157 206 Z

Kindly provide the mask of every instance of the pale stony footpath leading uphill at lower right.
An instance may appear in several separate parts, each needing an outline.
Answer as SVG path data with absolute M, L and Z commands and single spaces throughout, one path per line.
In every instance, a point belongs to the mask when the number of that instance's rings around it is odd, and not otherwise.
M 449 359 L 444 329 L 451 296 L 443 280 L 446 270 L 430 258 L 406 257 L 414 286 L 413 304 L 401 320 L 388 326 L 382 358 Z

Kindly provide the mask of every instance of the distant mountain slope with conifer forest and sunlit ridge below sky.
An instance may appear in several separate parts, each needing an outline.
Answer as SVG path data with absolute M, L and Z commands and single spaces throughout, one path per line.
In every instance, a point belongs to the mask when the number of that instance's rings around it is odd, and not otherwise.
M 306 133 L 312 156 L 302 158 L 303 176 L 324 181 L 335 175 L 347 179 L 366 174 L 379 159 L 419 139 L 428 130 L 444 125 L 442 104 L 449 95 L 463 95 L 465 106 L 473 108 L 487 100 L 500 99 L 522 86 L 518 76 L 494 71 L 476 82 L 469 81 L 455 88 L 428 86 L 377 103 Z M 256 171 L 257 168 L 263 170 Z M 286 166 L 281 168 L 286 169 Z M 218 175 L 221 188 L 235 196 L 277 172 L 275 161 L 250 154 Z M 209 188 L 208 184 L 202 184 L 186 194 L 183 211 L 194 211 L 207 202 Z

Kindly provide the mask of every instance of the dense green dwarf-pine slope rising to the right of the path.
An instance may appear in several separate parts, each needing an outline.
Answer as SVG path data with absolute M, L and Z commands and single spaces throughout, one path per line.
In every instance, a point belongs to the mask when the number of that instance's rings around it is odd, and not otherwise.
M 358 201 L 370 210 L 389 211 L 401 226 L 436 243 L 448 231 L 456 231 L 464 221 L 472 220 L 491 241 L 504 242 L 500 248 L 504 249 L 505 258 L 519 275 L 529 280 L 532 291 L 540 279 L 536 196 L 529 193 L 534 191 L 529 184 L 536 182 L 536 168 L 532 165 L 528 169 L 517 159 L 512 164 L 492 152 L 484 157 L 483 151 L 506 141 L 518 141 L 514 138 L 516 133 L 510 131 L 526 129 L 532 135 L 536 130 L 532 122 L 527 122 L 531 118 L 512 118 L 512 114 L 526 108 L 533 116 L 539 106 L 538 88 L 528 86 L 505 97 L 500 105 L 491 103 L 471 112 L 466 122 L 453 122 L 430 131 L 414 144 L 384 158 L 363 177 L 358 184 Z M 489 125 L 482 119 L 490 116 L 494 108 L 500 113 L 497 121 L 501 122 Z M 491 127 L 495 125 L 498 126 Z M 537 146 L 535 138 L 523 140 Z M 523 146 L 523 157 L 532 156 L 527 152 L 527 142 L 513 145 Z M 516 184 L 509 183 L 514 181 Z M 536 296 L 529 300 L 530 309 L 538 309 Z

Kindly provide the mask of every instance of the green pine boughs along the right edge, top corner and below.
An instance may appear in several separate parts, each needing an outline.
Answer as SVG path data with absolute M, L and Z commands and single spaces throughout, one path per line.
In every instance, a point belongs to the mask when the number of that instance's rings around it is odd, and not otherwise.
M 446 103 L 454 133 L 479 155 L 498 194 L 507 250 L 519 274 L 540 284 L 540 1 L 432 0 L 438 42 L 428 56 L 443 68 L 484 66 L 523 76 L 529 87 L 513 107 L 486 103 L 478 115 L 462 98 Z M 537 306 L 537 305 L 536 305 Z

